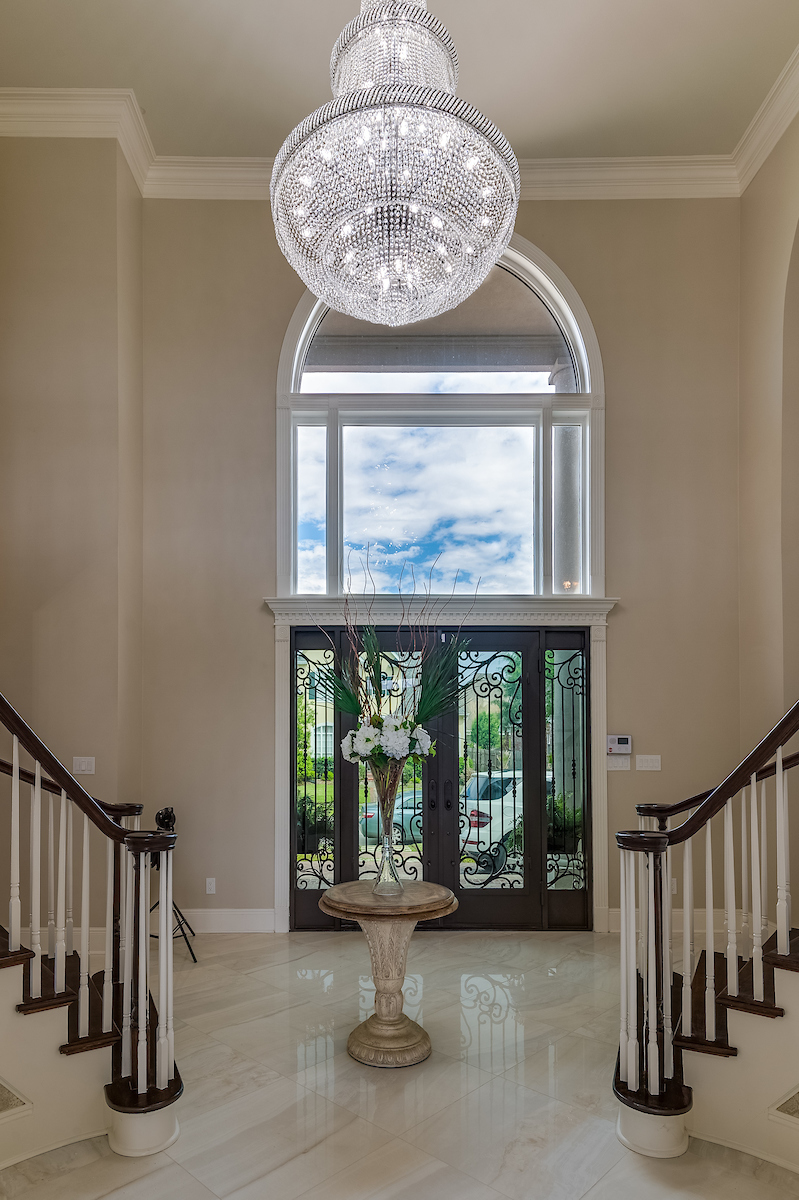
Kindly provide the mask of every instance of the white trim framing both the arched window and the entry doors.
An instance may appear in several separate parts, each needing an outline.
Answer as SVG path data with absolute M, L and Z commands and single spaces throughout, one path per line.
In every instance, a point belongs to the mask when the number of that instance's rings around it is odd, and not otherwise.
M 558 413 L 577 412 L 584 415 L 588 431 L 589 454 L 587 472 L 589 488 L 589 536 L 588 556 L 590 574 L 589 594 L 579 596 L 477 596 L 441 598 L 439 619 L 447 617 L 458 623 L 465 617 L 471 625 L 582 625 L 590 628 L 590 706 L 591 706 L 591 823 L 593 823 L 593 898 L 594 929 L 608 931 L 608 828 L 607 828 L 607 614 L 618 602 L 605 596 L 605 374 L 599 342 L 591 319 L 573 286 L 560 268 L 527 239 L 513 234 L 500 263 L 524 282 L 529 283 L 557 314 L 570 342 L 582 391 L 578 394 L 539 394 L 512 397 L 491 397 L 492 418 L 497 419 L 497 403 L 513 422 L 528 419 L 546 422 L 552 420 L 553 407 Z M 337 595 L 296 596 L 292 594 L 294 558 L 294 430 L 304 414 L 324 413 L 325 418 L 341 427 L 342 413 L 366 415 L 377 419 L 379 403 L 382 415 L 392 400 L 398 401 L 408 414 L 423 408 L 425 419 L 435 410 L 433 397 L 380 396 L 310 396 L 299 391 L 299 378 L 308 343 L 326 312 L 312 293 L 306 292 L 296 306 L 283 340 L 277 371 L 277 596 L 265 604 L 275 618 L 275 931 L 289 930 L 289 856 L 292 814 L 292 628 L 314 624 L 342 624 L 344 599 Z M 475 420 L 485 410 L 488 397 L 457 397 L 457 409 L 452 401 L 446 407 L 447 419 L 459 424 L 467 418 Z M 444 415 L 444 414 L 441 414 Z M 324 418 L 323 418 L 324 419 Z M 542 439 L 539 439 L 541 442 Z M 548 439 L 547 439 L 548 442 Z M 541 478 L 541 476 L 539 476 Z M 548 500 L 547 500 L 548 503 Z M 329 509 L 330 498 L 329 498 Z M 541 505 L 541 521 L 547 522 L 548 512 Z M 338 511 L 336 502 L 335 511 Z M 545 528 L 551 527 L 551 521 Z M 331 530 L 328 529 L 330 539 Z M 336 544 L 337 544 L 336 530 Z M 546 556 L 545 541 L 545 556 Z M 356 598 L 354 598 L 356 599 Z M 461 612 L 461 610 L 464 610 Z M 372 601 L 372 619 L 378 624 L 396 623 L 398 606 L 396 596 L 379 596 Z

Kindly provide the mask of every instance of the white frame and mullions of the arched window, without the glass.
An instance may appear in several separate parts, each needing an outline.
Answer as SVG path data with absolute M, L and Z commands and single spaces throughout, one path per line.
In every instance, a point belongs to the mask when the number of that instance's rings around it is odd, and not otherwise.
M 277 373 L 277 595 L 295 595 L 295 461 L 299 425 L 328 427 L 328 595 L 342 592 L 341 551 L 341 430 L 344 424 L 404 422 L 419 414 L 425 424 L 485 425 L 534 424 L 541 430 L 540 443 L 551 445 L 551 427 L 558 421 L 579 421 L 583 427 L 584 545 L 583 578 L 588 587 L 581 596 L 605 596 L 605 378 L 599 342 L 588 311 L 560 268 L 527 239 L 513 234 L 500 259 L 527 283 L 553 312 L 569 347 L 577 373 L 577 392 L 513 396 L 391 396 L 391 395 L 306 395 L 300 378 L 308 346 L 328 306 L 312 293 L 296 306 L 289 322 Z M 536 592 L 541 598 L 552 589 L 552 510 L 549 455 L 541 456 L 539 545 Z M 561 596 L 558 598 L 563 599 Z M 570 598 L 567 598 L 570 599 Z

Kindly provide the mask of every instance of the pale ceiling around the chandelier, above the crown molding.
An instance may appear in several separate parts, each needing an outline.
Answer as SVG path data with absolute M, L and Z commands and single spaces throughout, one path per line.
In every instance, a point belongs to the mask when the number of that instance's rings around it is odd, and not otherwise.
M 798 0 L 431 0 L 519 158 L 731 154 Z M 158 155 L 271 157 L 358 0 L 0 0 L 0 85 L 131 88 Z

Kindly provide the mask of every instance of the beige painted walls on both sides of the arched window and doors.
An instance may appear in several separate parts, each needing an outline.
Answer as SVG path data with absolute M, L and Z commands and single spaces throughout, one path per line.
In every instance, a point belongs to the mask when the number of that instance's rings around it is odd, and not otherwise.
M 795 541 L 785 520 L 776 538 L 762 530 L 794 503 L 775 334 L 799 215 L 794 137 L 741 203 L 519 210 L 518 232 L 566 272 L 599 336 L 607 586 L 621 598 L 608 721 L 662 755 L 660 774 L 609 775 L 611 834 L 638 802 L 719 781 L 788 686 Z M 97 794 L 140 791 L 146 823 L 175 805 L 179 902 L 269 908 L 262 599 L 275 588 L 275 378 L 301 284 L 265 203 L 142 202 L 110 142 L 0 139 L 0 168 L 2 690 L 67 763 L 96 754 Z M 740 613 L 739 516 L 761 564 L 741 553 Z

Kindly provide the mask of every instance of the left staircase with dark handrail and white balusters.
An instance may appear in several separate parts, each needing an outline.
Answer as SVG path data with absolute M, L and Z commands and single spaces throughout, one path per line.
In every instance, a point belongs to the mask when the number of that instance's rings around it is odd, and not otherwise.
M 173 1105 L 182 1092 L 173 1034 L 175 834 L 140 830 L 140 804 L 89 796 L 2 696 L 0 724 L 12 740 L 11 762 L 0 761 L 10 881 L 0 926 L 0 1169 L 103 1133 L 116 1153 L 156 1153 L 178 1136 Z M 92 900 L 97 876 L 104 887 Z M 102 912 L 100 928 L 92 912 Z

